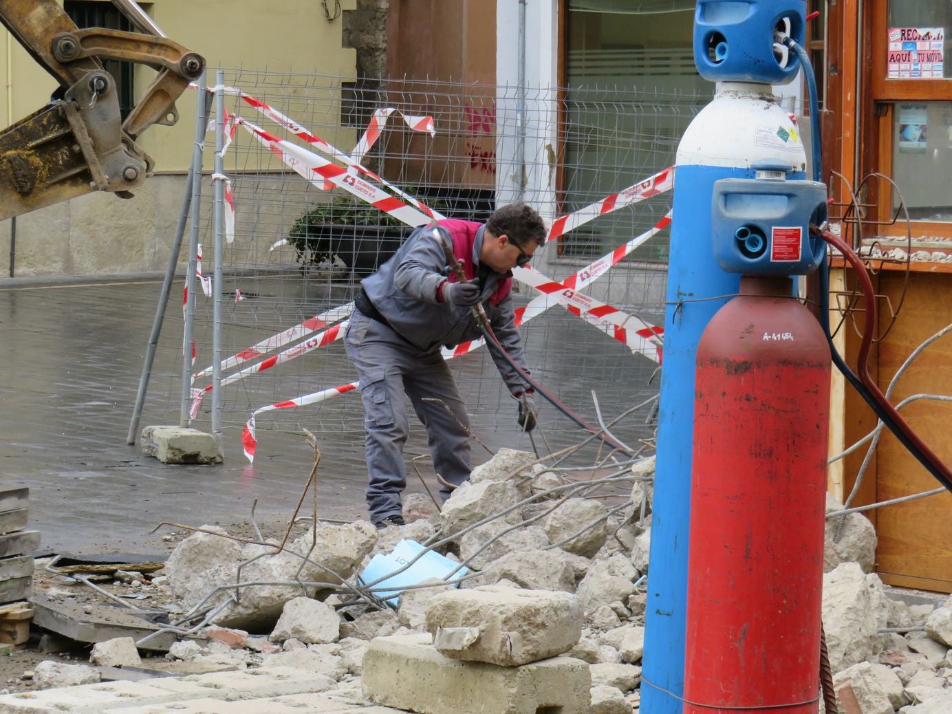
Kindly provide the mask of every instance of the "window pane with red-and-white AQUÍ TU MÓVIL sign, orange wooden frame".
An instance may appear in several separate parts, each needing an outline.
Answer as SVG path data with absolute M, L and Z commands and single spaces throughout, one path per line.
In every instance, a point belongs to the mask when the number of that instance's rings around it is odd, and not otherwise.
M 952 0 L 889 0 L 887 79 L 948 79 Z

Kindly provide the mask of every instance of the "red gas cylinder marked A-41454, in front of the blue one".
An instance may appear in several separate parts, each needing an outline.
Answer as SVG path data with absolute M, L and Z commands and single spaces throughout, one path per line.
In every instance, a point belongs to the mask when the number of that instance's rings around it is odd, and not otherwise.
M 741 292 L 698 345 L 684 712 L 812 714 L 830 352 L 788 278 Z

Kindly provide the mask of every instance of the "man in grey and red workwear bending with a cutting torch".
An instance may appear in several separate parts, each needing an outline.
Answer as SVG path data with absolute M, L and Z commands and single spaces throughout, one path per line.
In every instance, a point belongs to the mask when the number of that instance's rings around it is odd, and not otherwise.
M 511 270 L 525 266 L 544 243 L 545 224 L 535 209 L 522 202 L 509 204 L 493 212 L 486 225 L 446 219 L 417 228 L 393 257 L 361 281 L 344 342 L 360 376 L 367 506 L 378 528 L 404 525 L 407 397 L 426 427 L 442 498 L 469 479 L 469 417 L 440 350 L 482 336 L 472 314 L 472 307 L 482 305 L 500 344 L 526 368 L 509 295 Z M 466 283 L 446 265 L 448 245 L 463 266 Z M 519 426 L 531 430 L 536 423 L 531 388 L 502 355 L 490 354 L 519 401 Z

